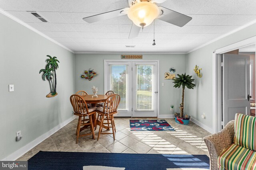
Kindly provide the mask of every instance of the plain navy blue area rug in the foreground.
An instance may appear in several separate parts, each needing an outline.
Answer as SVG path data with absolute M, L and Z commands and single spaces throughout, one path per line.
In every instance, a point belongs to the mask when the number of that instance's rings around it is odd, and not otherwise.
M 75 144 L 74 144 L 75 145 Z M 84 168 L 86 167 L 87 168 Z M 43 152 L 28 160 L 29 170 L 83 170 L 108 166 L 125 170 L 166 170 L 167 168 L 210 168 L 206 155 L 125 154 L 92 152 Z M 101 168 L 100 168 L 101 169 Z M 98 170 L 100 170 L 98 168 Z

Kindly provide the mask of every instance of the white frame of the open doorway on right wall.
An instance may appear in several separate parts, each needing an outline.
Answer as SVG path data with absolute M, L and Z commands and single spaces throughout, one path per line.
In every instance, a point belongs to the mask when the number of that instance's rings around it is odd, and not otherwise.
M 216 133 L 222 129 L 222 72 L 221 57 L 223 53 L 233 51 L 242 47 L 255 45 L 256 36 L 227 45 L 212 51 L 212 131 Z

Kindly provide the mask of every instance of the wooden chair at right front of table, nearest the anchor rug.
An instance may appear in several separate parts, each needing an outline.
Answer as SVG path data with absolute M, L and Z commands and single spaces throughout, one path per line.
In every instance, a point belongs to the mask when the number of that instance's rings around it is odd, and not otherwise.
M 98 139 L 100 139 L 100 134 L 113 134 L 115 140 L 116 126 L 114 121 L 114 114 L 118 113 L 118 106 L 120 103 L 120 96 L 118 94 L 112 94 L 109 96 L 104 103 L 103 107 L 97 107 L 97 112 L 100 115 L 100 129 L 98 133 Z M 104 122 L 107 121 L 107 122 Z M 102 129 L 112 128 L 112 133 L 102 133 Z

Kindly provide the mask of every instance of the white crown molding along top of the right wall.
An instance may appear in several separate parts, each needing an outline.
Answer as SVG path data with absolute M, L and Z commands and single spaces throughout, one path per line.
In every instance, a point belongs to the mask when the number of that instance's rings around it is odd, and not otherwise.
M 222 38 L 224 38 L 224 37 L 227 37 L 228 35 L 231 35 L 231 34 L 233 34 L 233 33 L 236 33 L 237 31 L 240 31 L 241 29 L 244 29 L 244 28 L 246 28 L 246 27 L 249 27 L 250 25 L 252 25 L 252 24 L 254 24 L 254 23 L 256 23 L 256 20 L 253 20 L 253 21 L 251 21 L 251 22 L 249 22 L 249 23 L 247 23 L 247 24 L 245 24 L 245 25 L 242 25 L 241 27 L 238 27 L 237 29 L 234 29 L 234 30 L 232 30 L 232 31 L 230 31 L 230 32 L 228 32 L 228 33 L 226 33 L 226 34 L 224 34 L 224 35 L 221 35 L 220 37 L 217 37 L 216 39 L 213 39 L 213 40 L 211 40 L 211 41 L 209 41 L 209 42 L 207 42 L 207 43 L 204 43 L 203 45 L 200 45 L 200 46 L 198 46 L 198 47 L 196 47 L 196 48 L 194 48 L 194 49 L 188 51 L 187 54 L 188 54 L 188 53 L 191 53 L 191 52 L 193 52 L 193 51 L 196 51 L 196 50 L 198 50 L 198 49 L 200 49 L 200 48 L 202 48 L 202 47 L 205 47 L 206 45 L 209 45 L 209 44 L 211 44 L 211 43 L 214 43 L 215 41 L 218 41 L 218 40 L 220 40 L 220 39 L 222 39 Z

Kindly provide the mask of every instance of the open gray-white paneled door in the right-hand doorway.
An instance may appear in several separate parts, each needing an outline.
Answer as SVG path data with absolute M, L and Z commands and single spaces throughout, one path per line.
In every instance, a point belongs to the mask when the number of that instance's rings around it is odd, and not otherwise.
M 250 115 L 250 56 L 223 54 L 222 116 L 224 125 L 236 113 Z

